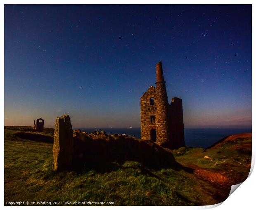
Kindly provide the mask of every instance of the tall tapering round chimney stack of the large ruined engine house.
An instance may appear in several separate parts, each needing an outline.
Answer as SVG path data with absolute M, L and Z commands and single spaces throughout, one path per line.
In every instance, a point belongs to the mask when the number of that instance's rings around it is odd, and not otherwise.
M 168 97 L 164 81 L 162 62 L 156 64 L 156 143 L 168 147 L 169 122 L 168 122 Z

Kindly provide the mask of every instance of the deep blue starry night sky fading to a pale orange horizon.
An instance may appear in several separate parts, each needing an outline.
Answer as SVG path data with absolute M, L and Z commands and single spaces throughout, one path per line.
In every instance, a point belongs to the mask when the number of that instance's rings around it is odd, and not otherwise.
M 140 127 L 160 60 L 185 127 L 251 126 L 251 5 L 5 5 L 5 125 Z

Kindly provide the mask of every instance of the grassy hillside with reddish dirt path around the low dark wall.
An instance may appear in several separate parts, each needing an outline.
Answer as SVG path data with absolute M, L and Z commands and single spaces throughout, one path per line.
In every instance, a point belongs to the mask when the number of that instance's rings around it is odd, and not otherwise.
M 31 127 L 5 127 L 5 202 L 211 205 L 224 201 L 231 184 L 244 181 L 250 170 L 251 138 L 240 137 L 218 148 L 183 147 L 173 151 L 175 159 L 186 166 L 181 170 L 156 170 L 126 161 L 55 173 L 52 143 L 44 141 L 52 136 L 53 129 L 40 133 L 40 140 L 30 138 L 29 133 L 39 134 Z

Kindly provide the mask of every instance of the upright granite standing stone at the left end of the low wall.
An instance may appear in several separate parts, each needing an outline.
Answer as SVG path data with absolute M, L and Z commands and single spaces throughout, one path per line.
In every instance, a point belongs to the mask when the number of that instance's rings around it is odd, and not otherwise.
M 56 118 L 53 142 L 53 170 L 71 168 L 73 158 L 73 130 L 68 115 Z

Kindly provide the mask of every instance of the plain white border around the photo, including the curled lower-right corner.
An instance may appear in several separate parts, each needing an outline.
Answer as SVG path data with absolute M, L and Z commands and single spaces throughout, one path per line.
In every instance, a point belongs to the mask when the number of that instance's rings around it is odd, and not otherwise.
M 255 6 L 254 6 L 254 1 L 253 0 L 179 0 L 179 1 L 167 1 L 167 0 L 158 0 L 158 1 L 152 1 L 152 0 L 93 0 L 93 1 L 83 1 L 83 0 L 62 0 L 62 1 L 57 1 L 57 0 L 38 0 L 38 1 L 32 1 L 32 0 L 3 0 L 2 5 L 1 5 L 1 12 L 0 12 L 0 19 L 2 23 L 2 29 L 4 28 L 4 4 L 252 4 L 252 25 L 254 26 L 255 24 Z M 1 30 L 1 45 L 2 45 L 2 50 L 1 50 L 1 59 L 2 59 L 2 69 L 4 69 L 4 30 Z M 255 41 L 255 26 L 252 28 L 252 58 L 256 58 L 255 54 L 255 46 L 256 46 L 256 41 Z M 252 69 L 255 69 L 255 61 L 252 60 Z M 2 98 L 2 104 L 4 104 L 4 71 L 2 71 L 2 76 L 0 77 L 1 80 L 1 98 Z M 254 140 L 254 134 L 255 134 L 255 119 L 256 119 L 256 112 L 255 112 L 255 91 L 256 91 L 256 74 L 254 71 L 252 71 L 252 136 L 253 136 L 253 156 L 252 156 L 252 168 L 255 164 L 255 140 Z M 1 116 L 2 120 L 0 129 L 1 133 L 3 136 L 4 133 L 4 106 L 1 107 Z M 3 140 L 3 138 L 2 138 Z M 2 151 L 4 147 L 4 141 L 2 141 Z M 2 175 L 2 191 L 1 191 L 1 203 L 4 205 L 4 153 L 2 153 L 1 156 L 1 163 L 2 163 L 2 170 L 1 170 L 1 175 Z M 251 170 L 252 172 L 252 170 Z M 251 173 L 250 172 L 250 173 Z M 232 193 L 232 196 L 230 196 L 226 201 L 222 203 L 222 205 L 218 206 L 218 209 L 253 209 L 255 206 L 254 200 L 255 200 L 255 179 L 256 179 L 256 173 L 252 172 L 251 175 L 247 178 L 247 180 L 239 186 L 239 189 L 236 190 L 234 193 Z M 189 206 L 189 207 L 184 207 L 184 206 L 166 206 L 166 207 L 160 207 L 162 209 L 206 209 L 206 208 L 213 208 L 216 207 L 216 205 L 212 206 Z M 5 206 L 4 208 L 19 208 L 19 209 L 34 209 L 34 206 L 15 206 L 15 207 L 10 207 L 10 206 Z M 45 208 L 45 207 L 40 207 L 37 206 L 36 208 Z M 52 207 L 55 209 L 60 209 L 60 208 L 69 208 L 67 206 L 59 206 L 59 207 Z M 73 206 L 72 206 L 73 208 Z M 77 208 L 86 208 L 86 209 L 95 209 L 95 208 L 121 208 L 118 206 L 114 207 L 99 207 L 99 206 L 86 206 L 86 207 L 77 207 Z M 123 206 L 122 208 L 147 208 L 147 209 L 152 209 L 152 208 L 159 208 L 155 206 L 147 206 L 147 207 L 140 207 L 140 206 Z

